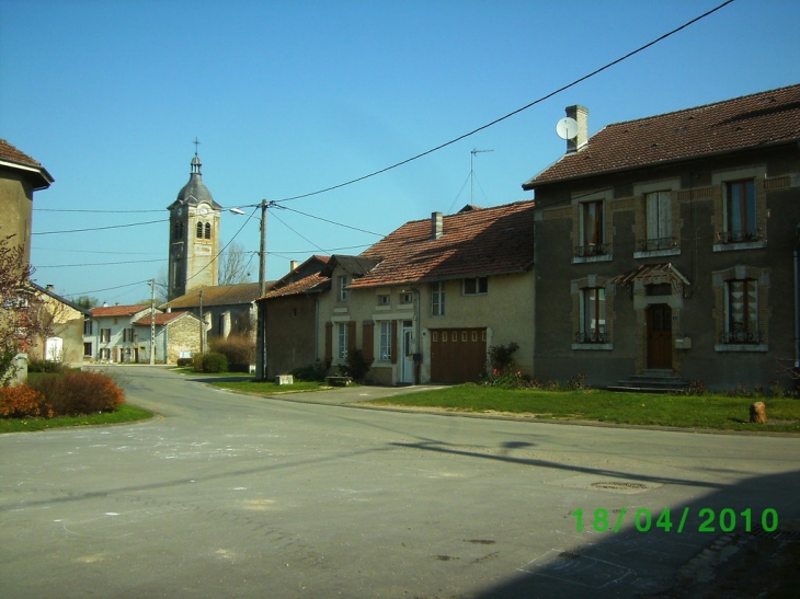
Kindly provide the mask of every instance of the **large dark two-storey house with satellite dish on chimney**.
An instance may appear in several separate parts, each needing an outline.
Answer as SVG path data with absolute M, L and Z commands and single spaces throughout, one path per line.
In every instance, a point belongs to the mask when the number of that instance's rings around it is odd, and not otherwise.
M 535 193 L 535 375 L 767 385 L 798 365 L 800 85 L 608 125 Z M 534 303 L 532 303 L 534 306 Z

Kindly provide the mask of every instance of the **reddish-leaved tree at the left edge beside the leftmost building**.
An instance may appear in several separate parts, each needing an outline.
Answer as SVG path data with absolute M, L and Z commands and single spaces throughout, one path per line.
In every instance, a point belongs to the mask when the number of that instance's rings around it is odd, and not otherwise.
M 16 373 L 18 354 L 52 336 L 53 319 L 31 286 L 31 266 L 22 246 L 11 244 L 13 237 L 0 238 L 0 387 Z

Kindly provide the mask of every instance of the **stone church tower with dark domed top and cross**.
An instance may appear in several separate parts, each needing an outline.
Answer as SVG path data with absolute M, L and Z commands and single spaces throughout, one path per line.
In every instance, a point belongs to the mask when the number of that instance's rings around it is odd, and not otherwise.
M 170 211 L 170 266 L 168 299 L 185 295 L 195 287 L 217 285 L 219 254 L 219 214 L 203 183 L 201 160 L 195 151 L 188 183 L 178 193 Z

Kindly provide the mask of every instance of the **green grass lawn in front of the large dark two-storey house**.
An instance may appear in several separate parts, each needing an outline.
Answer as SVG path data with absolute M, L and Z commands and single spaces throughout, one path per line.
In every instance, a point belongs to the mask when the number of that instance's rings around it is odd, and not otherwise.
M 766 425 L 751 424 L 750 405 L 763 401 Z M 510 413 L 537 419 L 800 433 L 800 400 L 725 395 L 660 395 L 605 390 L 533 391 L 464 384 L 396 395 L 375 405 L 423 406 L 455 412 Z

